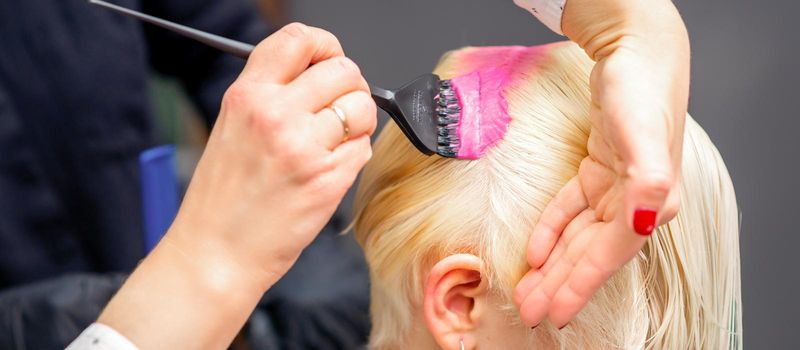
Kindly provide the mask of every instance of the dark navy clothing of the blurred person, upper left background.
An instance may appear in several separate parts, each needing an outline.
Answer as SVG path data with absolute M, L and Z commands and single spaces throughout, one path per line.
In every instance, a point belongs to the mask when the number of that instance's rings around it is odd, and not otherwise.
M 248 0 L 116 0 L 257 43 Z M 0 1 L 0 288 L 143 257 L 139 153 L 154 146 L 151 70 L 209 125 L 243 62 L 86 0 Z

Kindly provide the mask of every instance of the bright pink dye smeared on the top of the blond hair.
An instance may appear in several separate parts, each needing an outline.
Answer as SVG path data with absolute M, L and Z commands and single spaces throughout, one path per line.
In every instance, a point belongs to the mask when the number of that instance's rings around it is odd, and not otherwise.
M 460 56 L 461 70 L 469 73 L 451 80 L 461 104 L 457 158 L 481 158 L 505 137 L 511 122 L 505 91 L 523 69 L 531 73 L 530 56 L 541 56 L 548 48 L 485 47 Z

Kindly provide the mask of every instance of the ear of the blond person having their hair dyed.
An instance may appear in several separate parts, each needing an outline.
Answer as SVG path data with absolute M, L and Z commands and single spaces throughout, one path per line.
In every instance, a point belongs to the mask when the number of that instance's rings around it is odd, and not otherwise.
M 488 308 L 481 260 L 472 254 L 448 256 L 433 266 L 425 284 L 425 323 L 442 349 L 473 349 Z

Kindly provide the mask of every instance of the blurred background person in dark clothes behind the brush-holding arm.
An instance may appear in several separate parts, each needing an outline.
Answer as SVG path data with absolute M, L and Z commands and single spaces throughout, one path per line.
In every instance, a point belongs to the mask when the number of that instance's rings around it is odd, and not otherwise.
M 247 0 L 113 2 L 254 44 L 269 33 Z M 63 348 L 144 256 L 150 73 L 177 78 L 210 128 L 242 67 L 85 0 L 0 1 L 0 348 Z M 243 333 L 253 348 L 364 341 L 367 272 L 342 227 L 265 296 Z

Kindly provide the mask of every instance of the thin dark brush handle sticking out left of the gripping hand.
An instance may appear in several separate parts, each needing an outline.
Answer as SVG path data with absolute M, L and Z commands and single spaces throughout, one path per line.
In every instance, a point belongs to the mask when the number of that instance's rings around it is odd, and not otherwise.
M 105 7 L 111 11 L 123 15 L 138 18 L 142 21 L 159 26 L 164 29 L 169 29 L 183 36 L 197 40 L 203 44 L 206 44 L 218 50 L 227 52 L 231 55 L 238 56 L 244 59 L 247 59 L 247 57 L 250 56 L 250 53 L 253 52 L 254 48 L 253 45 L 246 44 L 241 41 L 231 40 L 225 37 L 221 37 L 219 35 L 206 33 L 204 31 L 200 31 L 191 27 L 187 27 L 170 21 L 165 21 L 161 18 L 146 15 L 144 13 L 136 12 L 114 4 L 109 4 L 105 1 L 89 0 L 89 3 Z

